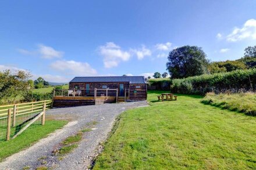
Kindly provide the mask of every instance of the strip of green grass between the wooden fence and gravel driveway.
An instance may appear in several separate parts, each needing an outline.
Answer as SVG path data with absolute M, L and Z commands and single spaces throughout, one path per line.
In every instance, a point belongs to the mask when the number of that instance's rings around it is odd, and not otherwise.
M 9 141 L 0 140 L 0 161 L 9 155 L 31 146 L 39 139 L 46 137 L 49 133 L 62 128 L 65 124 L 67 124 L 67 121 L 48 120 L 45 121 L 44 126 L 36 125 L 33 127 L 33 125 L 31 125 L 31 127 L 15 139 Z

